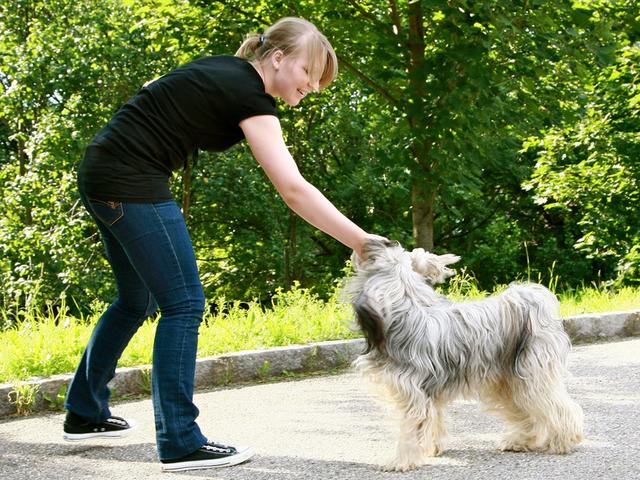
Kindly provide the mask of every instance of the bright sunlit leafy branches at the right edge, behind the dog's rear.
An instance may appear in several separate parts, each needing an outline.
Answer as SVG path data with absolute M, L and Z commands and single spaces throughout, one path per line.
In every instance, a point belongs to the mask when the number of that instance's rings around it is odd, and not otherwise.
M 573 246 L 597 260 L 607 277 L 639 283 L 640 47 L 594 78 L 589 103 L 573 122 L 525 144 L 536 168 L 527 187 L 570 232 Z

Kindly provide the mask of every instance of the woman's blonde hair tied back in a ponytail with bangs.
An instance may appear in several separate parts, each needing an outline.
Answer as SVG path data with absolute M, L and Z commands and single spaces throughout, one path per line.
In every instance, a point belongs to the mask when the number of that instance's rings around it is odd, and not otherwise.
M 250 33 L 236 52 L 236 57 L 260 62 L 274 51 L 298 56 L 307 53 L 309 76 L 320 88 L 329 85 L 338 75 L 338 59 L 333 47 L 317 27 L 303 18 L 285 17 L 261 35 Z

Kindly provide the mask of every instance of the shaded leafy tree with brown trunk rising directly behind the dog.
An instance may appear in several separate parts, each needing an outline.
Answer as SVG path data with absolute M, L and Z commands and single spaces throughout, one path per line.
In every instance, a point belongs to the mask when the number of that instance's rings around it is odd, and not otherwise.
M 427 249 L 450 187 L 477 189 L 487 168 L 513 163 L 514 137 L 557 112 L 563 89 L 540 78 L 574 80 L 591 58 L 583 45 L 592 24 L 571 2 L 287 5 L 319 19 L 341 65 L 389 106 L 386 133 L 405 152 L 415 244 Z

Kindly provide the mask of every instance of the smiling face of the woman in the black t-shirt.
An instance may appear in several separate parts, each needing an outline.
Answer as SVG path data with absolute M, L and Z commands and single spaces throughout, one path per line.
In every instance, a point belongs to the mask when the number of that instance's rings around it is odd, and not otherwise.
M 287 104 L 295 107 L 309 92 L 318 91 L 318 80 L 309 78 L 309 61 L 306 54 L 282 56 L 274 67 L 273 93 Z

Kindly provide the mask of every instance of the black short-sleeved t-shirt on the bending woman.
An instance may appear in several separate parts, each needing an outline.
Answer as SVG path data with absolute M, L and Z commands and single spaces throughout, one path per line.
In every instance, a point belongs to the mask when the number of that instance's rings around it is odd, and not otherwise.
M 196 149 L 222 151 L 244 139 L 240 121 L 277 115 L 258 72 L 221 55 L 183 65 L 143 87 L 87 147 L 78 183 L 90 198 L 171 198 L 169 177 Z

